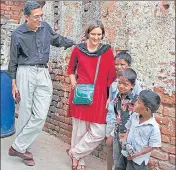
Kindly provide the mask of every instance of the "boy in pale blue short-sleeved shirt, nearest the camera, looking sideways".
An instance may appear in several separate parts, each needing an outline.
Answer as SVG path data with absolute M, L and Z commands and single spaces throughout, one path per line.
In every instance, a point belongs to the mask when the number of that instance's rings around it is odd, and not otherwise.
M 159 125 L 153 113 L 160 106 L 160 97 L 150 90 L 140 92 L 134 113 L 126 123 L 128 129 L 116 170 L 147 170 L 151 151 L 161 147 Z

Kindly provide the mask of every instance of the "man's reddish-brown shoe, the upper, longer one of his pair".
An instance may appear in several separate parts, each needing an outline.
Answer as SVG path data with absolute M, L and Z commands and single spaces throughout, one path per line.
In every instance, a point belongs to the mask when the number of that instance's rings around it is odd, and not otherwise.
M 9 155 L 10 156 L 18 156 L 24 160 L 30 160 L 33 159 L 33 155 L 31 152 L 25 152 L 25 153 L 20 153 L 13 149 L 12 147 L 9 148 Z

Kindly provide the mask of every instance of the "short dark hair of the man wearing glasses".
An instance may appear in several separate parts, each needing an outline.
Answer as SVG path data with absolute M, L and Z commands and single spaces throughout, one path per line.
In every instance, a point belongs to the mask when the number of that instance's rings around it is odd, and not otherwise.
M 40 4 L 35 1 L 28 1 L 24 6 L 24 15 L 30 15 L 34 9 L 41 8 Z

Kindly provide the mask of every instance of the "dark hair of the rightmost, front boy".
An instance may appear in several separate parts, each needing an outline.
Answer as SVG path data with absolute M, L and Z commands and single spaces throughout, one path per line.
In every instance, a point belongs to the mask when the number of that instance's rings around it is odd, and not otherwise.
M 160 96 L 151 90 L 142 90 L 139 93 L 139 98 L 142 100 L 144 105 L 151 110 L 151 113 L 155 113 L 161 102 Z

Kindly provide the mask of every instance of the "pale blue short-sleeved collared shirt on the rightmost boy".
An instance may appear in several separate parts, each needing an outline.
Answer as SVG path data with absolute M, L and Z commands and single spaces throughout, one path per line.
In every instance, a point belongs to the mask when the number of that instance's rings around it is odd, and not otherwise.
M 127 143 L 130 144 L 136 152 L 146 147 L 161 147 L 161 133 L 154 116 L 139 124 L 139 114 L 134 112 L 125 127 L 129 130 Z M 147 165 L 150 155 L 151 152 L 146 153 L 134 158 L 133 161 L 138 165 L 141 165 L 142 162 L 145 161 L 145 165 Z

